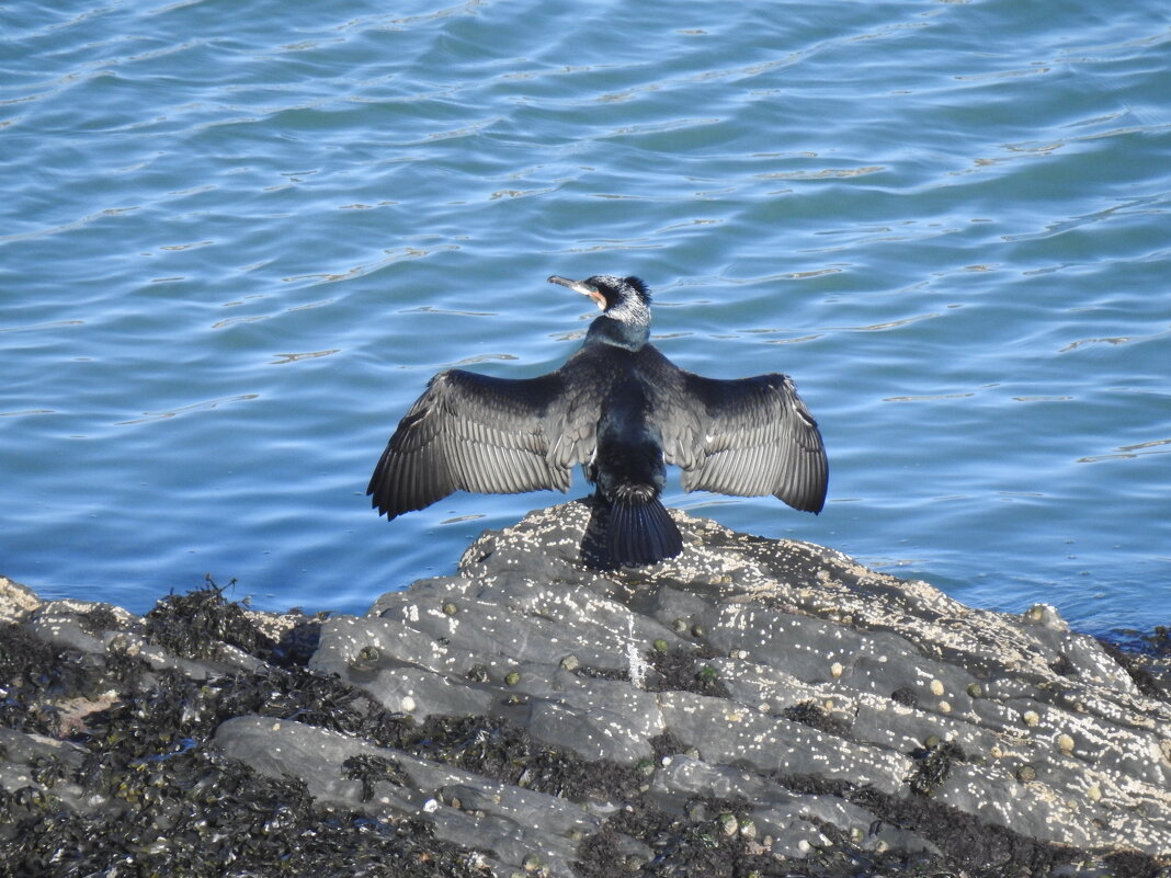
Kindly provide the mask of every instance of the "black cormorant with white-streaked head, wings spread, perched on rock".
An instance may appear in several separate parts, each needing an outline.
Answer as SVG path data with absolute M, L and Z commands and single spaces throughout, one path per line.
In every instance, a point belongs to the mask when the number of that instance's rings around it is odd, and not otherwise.
M 569 491 L 575 464 L 586 465 L 609 512 L 603 567 L 650 564 L 683 549 L 659 501 L 665 464 L 683 468 L 684 491 L 774 494 L 821 512 L 826 450 L 787 375 L 721 380 L 679 369 L 649 341 L 650 293 L 638 277 L 549 282 L 602 309 L 581 349 L 536 378 L 434 376 L 367 488 L 388 521 L 454 491 Z

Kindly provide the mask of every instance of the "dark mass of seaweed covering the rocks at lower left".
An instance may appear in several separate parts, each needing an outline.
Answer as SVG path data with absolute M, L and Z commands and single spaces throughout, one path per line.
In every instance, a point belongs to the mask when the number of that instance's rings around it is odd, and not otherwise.
M 208 585 L 160 602 L 146 619 L 150 639 L 189 658 L 213 657 L 219 643 L 275 656 L 276 644 L 221 592 Z M 103 609 L 84 624 L 115 625 Z M 308 654 L 290 649 L 283 660 Z M 0 722 L 43 735 L 62 732 L 55 714 L 63 700 L 97 698 L 111 685 L 118 692 L 85 715 L 68 760 L 29 745 L 22 759 L 36 786 L 0 789 L 0 878 L 484 874 L 475 851 L 437 841 L 424 823 L 319 805 L 301 781 L 259 775 L 210 743 L 220 722 L 249 713 L 382 742 L 417 733 L 335 677 L 289 664 L 198 680 L 151 670 L 117 646 L 87 656 L 5 625 L 0 680 Z M 364 764 L 371 778 L 379 769 L 393 778 L 389 761 Z

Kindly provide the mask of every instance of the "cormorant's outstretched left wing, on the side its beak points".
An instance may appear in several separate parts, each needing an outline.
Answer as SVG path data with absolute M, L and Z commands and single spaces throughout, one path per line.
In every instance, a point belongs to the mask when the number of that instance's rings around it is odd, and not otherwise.
M 559 441 L 568 426 L 563 389 L 560 371 L 521 379 L 440 372 L 390 438 L 367 488 L 371 505 L 389 520 L 454 491 L 568 491 L 580 448 Z

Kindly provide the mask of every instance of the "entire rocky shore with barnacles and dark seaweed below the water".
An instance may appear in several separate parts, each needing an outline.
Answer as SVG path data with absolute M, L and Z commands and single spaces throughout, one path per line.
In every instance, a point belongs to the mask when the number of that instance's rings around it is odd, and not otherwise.
M 672 514 L 669 563 L 584 569 L 571 502 L 362 617 L 0 581 L 0 874 L 1171 873 L 1160 630 Z

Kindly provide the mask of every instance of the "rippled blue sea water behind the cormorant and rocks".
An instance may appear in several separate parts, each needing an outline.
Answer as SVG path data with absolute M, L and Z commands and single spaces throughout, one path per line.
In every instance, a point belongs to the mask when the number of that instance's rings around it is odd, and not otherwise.
M 563 498 L 388 524 L 388 435 L 440 369 L 556 368 L 595 314 L 545 277 L 614 273 L 829 451 L 817 517 L 669 505 L 1171 623 L 1163 0 L 64 0 L 0 40 L 0 574 L 141 612 L 451 572 Z

